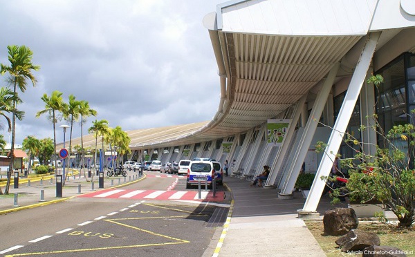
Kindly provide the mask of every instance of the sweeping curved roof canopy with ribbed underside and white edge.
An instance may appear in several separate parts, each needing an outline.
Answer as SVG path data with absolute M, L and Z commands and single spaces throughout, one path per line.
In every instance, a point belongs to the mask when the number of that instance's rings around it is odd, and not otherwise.
M 350 76 L 370 31 L 383 30 L 378 49 L 395 40 L 400 53 L 414 53 L 415 39 L 408 40 L 408 35 L 414 37 L 413 28 L 403 34 L 403 28 L 414 26 L 414 21 L 413 0 L 251 0 L 220 4 L 216 13 L 203 19 L 219 68 L 221 100 L 216 115 L 210 122 L 127 131 L 130 148 L 215 140 L 285 115 L 302 95 L 313 98 L 335 63 L 341 63 L 337 80 Z M 391 53 L 391 58 L 400 53 Z M 385 65 L 376 58 L 374 63 Z M 95 144 L 92 135 L 85 140 Z

